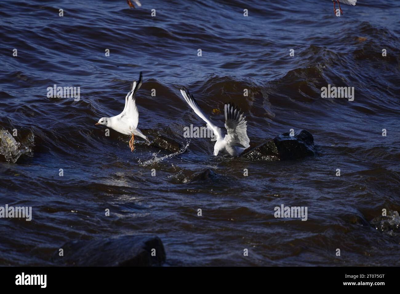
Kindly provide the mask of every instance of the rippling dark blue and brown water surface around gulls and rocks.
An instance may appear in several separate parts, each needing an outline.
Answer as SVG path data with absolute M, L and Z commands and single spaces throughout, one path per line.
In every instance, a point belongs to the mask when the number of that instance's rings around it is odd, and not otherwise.
M 141 2 L 0 2 L 0 129 L 20 143 L 15 163 L 0 155 L 0 206 L 33 214 L 0 219 L 0 265 L 49 265 L 69 240 L 151 233 L 169 265 L 399 266 L 398 219 L 379 225 L 382 209 L 400 211 L 399 2 L 342 4 L 342 17 L 327 0 Z M 122 111 L 140 71 L 138 127 L 182 151 L 137 139 L 131 153 L 128 136 L 94 127 Z M 48 98 L 54 84 L 79 86 L 80 100 Z M 354 87 L 354 101 L 322 98 L 328 84 Z M 233 101 L 252 143 L 307 129 L 318 155 L 212 156 L 208 139 L 183 137 L 203 122 L 181 86 L 218 126 Z M 204 169 L 215 176 L 194 181 Z M 282 204 L 308 207 L 308 220 L 275 218 Z

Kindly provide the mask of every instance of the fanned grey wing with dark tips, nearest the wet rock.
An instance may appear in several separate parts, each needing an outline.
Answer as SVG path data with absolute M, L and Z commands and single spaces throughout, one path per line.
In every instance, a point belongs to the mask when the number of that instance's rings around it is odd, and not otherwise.
M 227 144 L 248 148 L 250 139 L 247 137 L 247 121 L 244 113 L 233 103 L 225 104 L 225 128 L 228 135 L 225 137 Z

